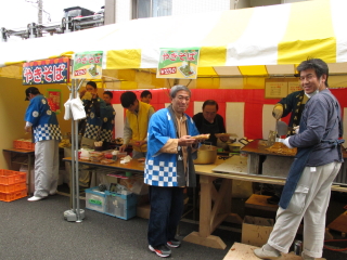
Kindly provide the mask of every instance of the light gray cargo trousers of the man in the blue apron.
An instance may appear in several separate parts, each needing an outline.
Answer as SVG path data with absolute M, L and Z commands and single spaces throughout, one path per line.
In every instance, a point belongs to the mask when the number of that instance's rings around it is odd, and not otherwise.
M 324 245 L 325 213 L 332 182 L 340 162 L 305 167 L 287 209 L 278 209 L 275 224 L 268 244 L 282 252 L 288 249 L 304 218 L 304 252 L 320 258 Z

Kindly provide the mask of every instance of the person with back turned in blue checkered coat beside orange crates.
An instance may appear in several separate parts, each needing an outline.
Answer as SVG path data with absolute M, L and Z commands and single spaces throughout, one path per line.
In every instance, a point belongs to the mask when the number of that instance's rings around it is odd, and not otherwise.
M 29 202 L 37 202 L 56 193 L 59 178 L 59 142 L 61 129 L 56 115 L 36 87 L 25 90 L 30 101 L 25 113 L 25 131 L 34 131 L 35 192 Z

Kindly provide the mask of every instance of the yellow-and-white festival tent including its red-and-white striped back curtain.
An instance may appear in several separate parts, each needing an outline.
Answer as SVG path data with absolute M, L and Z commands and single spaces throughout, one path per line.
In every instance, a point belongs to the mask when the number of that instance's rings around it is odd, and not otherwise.
M 104 88 L 169 88 L 172 80 L 156 78 L 160 48 L 197 47 L 197 79 L 179 81 L 196 89 L 193 96 L 197 103 L 190 107 L 190 115 L 207 98 L 216 99 L 221 104 L 219 113 L 228 114 L 227 131 L 265 138 L 271 107 L 278 102 L 265 99 L 266 80 L 295 80 L 296 66 L 308 56 L 329 63 L 330 86 L 342 88 L 334 94 L 347 107 L 346 10 L 344 0 L 316 0 L 133 20 L 53 37 L 2 42 L 0 83 L 3 78 L 21 79 L 23 62 L 103 51 Z M 156 108 L 164 106 L 162 98 L 154 100 Z

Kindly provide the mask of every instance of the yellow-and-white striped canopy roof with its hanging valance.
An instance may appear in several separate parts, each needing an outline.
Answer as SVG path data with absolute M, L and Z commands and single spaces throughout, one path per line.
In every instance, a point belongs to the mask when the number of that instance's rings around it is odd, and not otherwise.
M 73 34 L 0 43 L 0 66 L 104 51 L 104 69 L 154 69 L 159 48 L 200 47 L 200 76 L 293 75 L 308 56 L 347 72 L 347 1 L 134 20 Z

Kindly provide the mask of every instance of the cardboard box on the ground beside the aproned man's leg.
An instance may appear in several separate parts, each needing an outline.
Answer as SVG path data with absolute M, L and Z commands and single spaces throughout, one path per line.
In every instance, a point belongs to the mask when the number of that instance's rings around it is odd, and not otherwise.
M 268 242 L 272 229 L 272 219 L 245 216 L 241 243 L 260 247 Z

